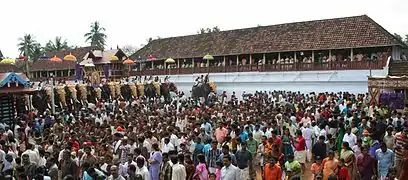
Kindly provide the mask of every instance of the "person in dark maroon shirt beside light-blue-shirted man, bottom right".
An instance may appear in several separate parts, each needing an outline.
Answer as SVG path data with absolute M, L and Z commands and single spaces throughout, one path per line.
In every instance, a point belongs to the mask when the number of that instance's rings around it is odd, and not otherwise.
M 357 156 L 357 176 L 361 180 L 377 178 L 376 160 L 370 156 L 368 147 L 361 148 L 361 154 Z

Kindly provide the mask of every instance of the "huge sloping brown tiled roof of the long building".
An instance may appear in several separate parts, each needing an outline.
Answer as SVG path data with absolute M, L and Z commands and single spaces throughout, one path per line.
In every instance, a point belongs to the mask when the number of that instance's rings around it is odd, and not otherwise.
M 248 53 L 324 50 L 402 45 L 366 15 L 278 24 L 181 37 L 156 39 L 132 59 L 202 57 Z

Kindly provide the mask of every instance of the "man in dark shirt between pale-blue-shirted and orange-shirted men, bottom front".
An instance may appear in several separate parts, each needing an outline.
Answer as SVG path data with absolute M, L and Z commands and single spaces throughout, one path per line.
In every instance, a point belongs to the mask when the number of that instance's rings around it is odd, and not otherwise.
M 252 171 L 252 154 L 247 150 L 246 142 L 241 143 L 241 150 L 235 153 L 237 167 L 242 179 L 249 179 L 249 172 Z

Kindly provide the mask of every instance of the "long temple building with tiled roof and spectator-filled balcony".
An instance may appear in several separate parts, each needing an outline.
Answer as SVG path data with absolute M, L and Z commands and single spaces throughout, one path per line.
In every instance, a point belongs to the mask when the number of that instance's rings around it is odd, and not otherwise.
M 360 70 L 382 69 L 404 48 L 361 15 L 156 39 L 130 58 L 134 75 Z

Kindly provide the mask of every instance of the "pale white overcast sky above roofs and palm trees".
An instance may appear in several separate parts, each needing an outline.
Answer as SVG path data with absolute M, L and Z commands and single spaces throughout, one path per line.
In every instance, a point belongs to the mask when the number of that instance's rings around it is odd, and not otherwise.
M 0 50 L 17 57 L 18 38 L 32 34 L 45 45 L 61 36 L 87 46 L 84 34 L 99 21 L 106 48 L 140 47 L 149 37 L 366 14 L 391 33 L 408 34 L 407 0 L 11 0 L 1 2 Z

